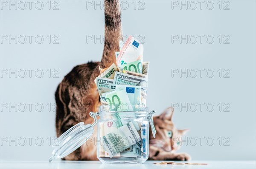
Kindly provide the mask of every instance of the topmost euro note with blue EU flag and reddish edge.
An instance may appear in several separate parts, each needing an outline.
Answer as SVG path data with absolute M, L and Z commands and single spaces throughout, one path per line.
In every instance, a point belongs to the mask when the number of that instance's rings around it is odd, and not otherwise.
M 134 37 L 129 36 L 119 52 L 116 64 L 120 66 L 140 59 L 143 62 L 143 45 Z

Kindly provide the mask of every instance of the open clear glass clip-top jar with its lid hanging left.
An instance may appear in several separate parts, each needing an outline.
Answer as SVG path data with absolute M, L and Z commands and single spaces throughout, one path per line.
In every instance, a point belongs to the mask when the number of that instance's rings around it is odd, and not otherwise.
M 102 163 L 144 163 L 149 155 L 149 125 L 153 136 L 155 111 L 148 108 L 140 111 L 90 112 L 93 124 L 76 124 L 64 132 L 52 145 L 53 158 L 63 158 L 84 144 L 93 134 L 97 124 L 97 158 Z M 99 120 L 97 120 L 97 116 Z

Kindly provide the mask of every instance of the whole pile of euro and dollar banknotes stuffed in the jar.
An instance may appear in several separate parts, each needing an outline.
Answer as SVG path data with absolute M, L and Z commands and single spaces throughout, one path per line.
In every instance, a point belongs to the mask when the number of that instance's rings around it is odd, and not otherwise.
M 129 36 L 126 42 L 120 40 L 119 46 L 116 63 L 109 68 L 99 68 L 100 75 L 95 79 L 100 100 L 117 112 L 143 110 L 146 107 L 149 68 L 149 62 L 143 62 L 143 45 Z M 138 121 L 125 123 L 122 118 L 120 123 L 105 121 L 101 124 L 103 144 L 99 157 L 137 158 L 143 155 L 143 137 L 147 133 L 143 126 Z M 128 144 L 116 140 L 123 137 L 130 139 Z

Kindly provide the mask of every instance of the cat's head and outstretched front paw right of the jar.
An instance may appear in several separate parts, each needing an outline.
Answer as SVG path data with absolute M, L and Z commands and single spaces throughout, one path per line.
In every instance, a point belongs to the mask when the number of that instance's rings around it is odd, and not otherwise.
M 157 131 L 155 138 L 149 134 L 149 160 L 177 160 L 191 159 L 187 153 L 175 153 L 180 149 L 180 140 L 189 129 L 177 130 L 172 122 L 174 109 L 169 107 L 162 114 L 154 116 L 154 127 Z

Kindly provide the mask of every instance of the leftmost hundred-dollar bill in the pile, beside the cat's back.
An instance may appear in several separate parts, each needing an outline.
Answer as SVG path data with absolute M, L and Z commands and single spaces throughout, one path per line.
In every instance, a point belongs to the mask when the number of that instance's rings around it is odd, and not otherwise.
M 97 77 L 95 80 L 96 80 L 96 85 L 99 91 L 100 99 L 102 99 L 101 97 L 102 93 L 106 93 L 116 88 L 116 84 L 113 83 L 113 79 Z

